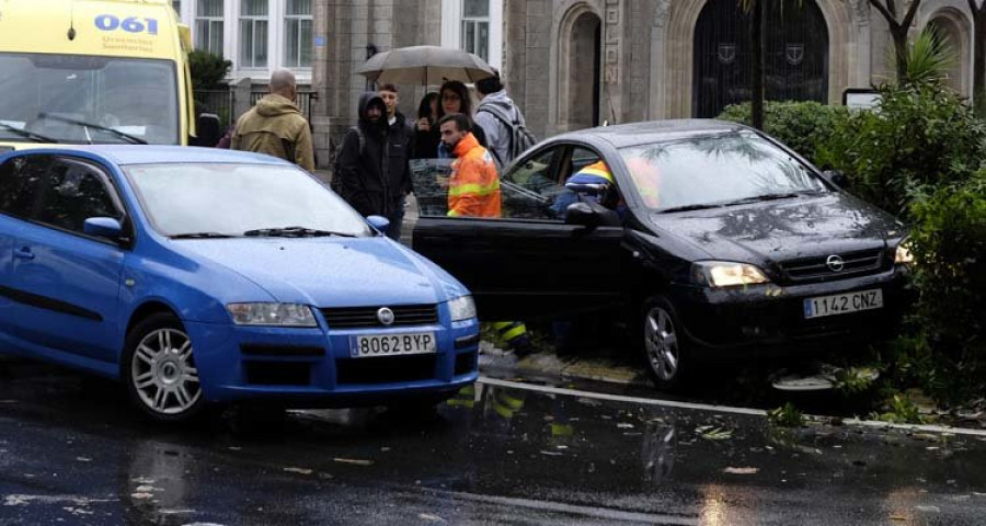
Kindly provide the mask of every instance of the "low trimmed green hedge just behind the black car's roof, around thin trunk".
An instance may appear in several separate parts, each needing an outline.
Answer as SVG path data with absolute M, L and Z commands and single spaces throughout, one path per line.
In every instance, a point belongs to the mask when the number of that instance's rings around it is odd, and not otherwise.
M 836 119 L 846 113 L 844 106 L 817 102 L 768 101 L 764 107 L 764 132 L 816 162 L 818 145 L 828 140 Z M 749 126 L 749 103 L 745 102 L 726 106 L 719 118 Z

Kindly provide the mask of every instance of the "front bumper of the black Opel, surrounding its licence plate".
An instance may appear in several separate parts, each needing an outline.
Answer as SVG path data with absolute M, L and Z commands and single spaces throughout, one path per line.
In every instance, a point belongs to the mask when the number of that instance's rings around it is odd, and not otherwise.
M 838 342 L 864 344 L 890 333 L 910 301 L 906 271 L 826 283 L 745 288 L 673 288 L 670 299 L 692 348 L 706 357 L 792 355 L 830 348 Z M 883 308 L 805 319 L 804 299 L 818 296 L 883 290 Z

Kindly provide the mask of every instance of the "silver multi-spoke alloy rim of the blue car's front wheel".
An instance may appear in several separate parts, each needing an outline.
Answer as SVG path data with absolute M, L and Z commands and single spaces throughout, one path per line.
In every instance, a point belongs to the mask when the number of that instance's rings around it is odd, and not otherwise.
M 154 413 L 175 415 L 192 409 L 202 397 L 192 340 L 177 329 L 149 332 L 134 351 L 130 381 Z

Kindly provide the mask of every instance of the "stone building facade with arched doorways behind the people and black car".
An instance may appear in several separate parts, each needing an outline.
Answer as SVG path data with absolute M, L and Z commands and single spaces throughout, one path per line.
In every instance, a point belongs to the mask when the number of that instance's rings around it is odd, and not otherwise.
M 482 50 L 492 54 L 489 61 L 501 68 L 511 95 L 539 137 L 603 122 L 708 116 L 748 93 L 736 0 L 489 2 L 482 20 L 491 42 Z M 472 46 L 474 24 L 463 12 L 474 4 L 314 0 L 312 88 L 320 103 L 313 124 L 318 147 L 324 150 L 319 158 L 331 159 L 332 138 L 355 121 L 356 101 L 367 83 L 354 70 L 368 50 Z M 839 104 L 846 89 L 867 88 L 890 75 L 886 24 L 867 0 L 804 0 L 800 9 L 784 9 L 773 19 L 768 15 L 768 61 L 777 65 L 768 67 L 768 96 L 775 85 L 777 98 Z M 928 24 L 942 31 L 959 56 L 949 82 L 970 94 L 973 35 L 967 2 L 924 0 L 913 31 Z M 462 32 L 469 38 L 455 42 Z M 415 113 L 423 93 L 421 87 L 401 87 L 406 114 Z

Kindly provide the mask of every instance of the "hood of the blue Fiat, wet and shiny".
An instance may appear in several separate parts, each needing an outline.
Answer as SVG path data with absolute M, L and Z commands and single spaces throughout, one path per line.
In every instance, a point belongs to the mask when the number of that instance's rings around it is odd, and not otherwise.
M 385 238 L 182 240 L 278 301 L 316 307 L 424 305 L 466 294 L 447 273 Z

